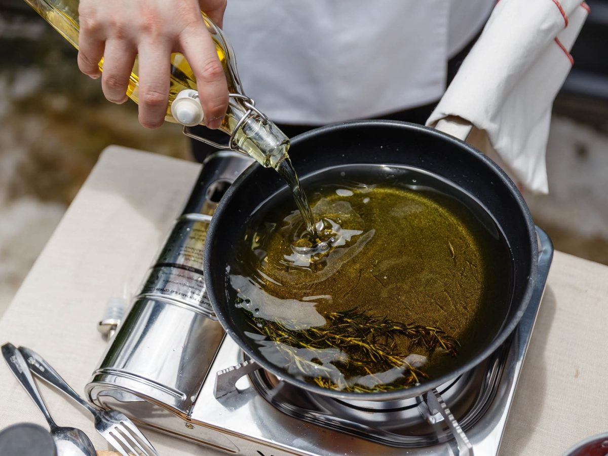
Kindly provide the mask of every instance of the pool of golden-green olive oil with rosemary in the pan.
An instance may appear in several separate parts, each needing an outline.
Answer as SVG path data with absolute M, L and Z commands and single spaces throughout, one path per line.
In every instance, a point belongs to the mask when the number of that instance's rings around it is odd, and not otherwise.
M 511 254 L 471 198 L 376 165 L 305 184 L 318 239 L 279 193 L 250 218 L 230 267 L 233 311 L 261 356 L 323 387 L 377 392 L 435 378 L 497 334 Z

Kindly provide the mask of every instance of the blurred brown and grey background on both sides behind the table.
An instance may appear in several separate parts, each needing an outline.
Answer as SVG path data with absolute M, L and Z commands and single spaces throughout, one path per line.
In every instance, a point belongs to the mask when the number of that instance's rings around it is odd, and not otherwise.
M 550 194 L 525 198 L 557 249 L 608 264 L 608 0 L 587 4 L 554 105 Z M 24 2 L 0 0 L 0 314 L 103 148 L 192 159 L 179 126 L 140 126 L 137 106 L 107 102 L 76 55 Z

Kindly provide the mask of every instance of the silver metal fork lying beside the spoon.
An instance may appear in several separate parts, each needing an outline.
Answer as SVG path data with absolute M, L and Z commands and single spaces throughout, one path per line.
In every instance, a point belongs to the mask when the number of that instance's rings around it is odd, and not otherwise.
M 92 413 L 95 417 L 95 430 L 122 456 L 129 456 L 128 452 L 140 456 L 159 456 L 148 439 L 123 413 L 92 406 L 81 398 L 40 354 L 26 347 L 19 347 L 19 351 L 34 375 L 66 393 Z

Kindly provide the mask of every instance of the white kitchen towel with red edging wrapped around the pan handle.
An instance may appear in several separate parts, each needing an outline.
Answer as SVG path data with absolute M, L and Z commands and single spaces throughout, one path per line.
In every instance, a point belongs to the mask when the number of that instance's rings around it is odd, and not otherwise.
M 580 0 L 500 0 L 427 125 L 457 116 L 517 184 L 547 193 L 551 105 L 589 15 Z

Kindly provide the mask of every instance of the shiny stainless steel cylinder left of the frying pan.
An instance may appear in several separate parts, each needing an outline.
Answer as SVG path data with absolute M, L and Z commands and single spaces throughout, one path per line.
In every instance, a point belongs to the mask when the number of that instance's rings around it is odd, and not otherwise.
M 203 164 L 182 215 L 150 268 L 86 391 L 136 418 L 187 416 L 224 337 L 207 299 L 203 252 L 219 199 L 252 159 L 223 151 Z

